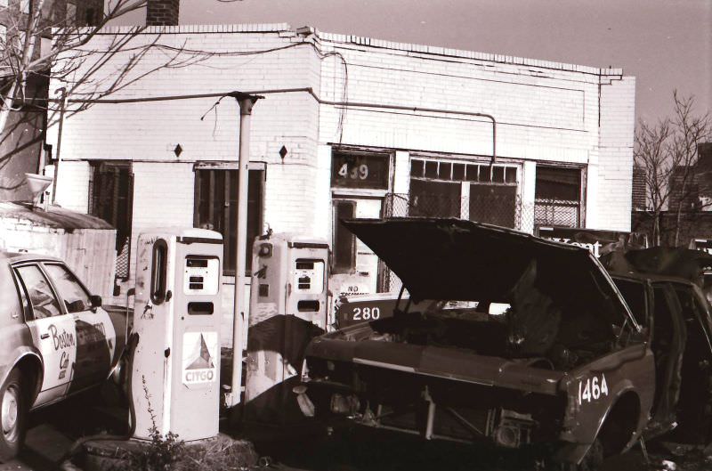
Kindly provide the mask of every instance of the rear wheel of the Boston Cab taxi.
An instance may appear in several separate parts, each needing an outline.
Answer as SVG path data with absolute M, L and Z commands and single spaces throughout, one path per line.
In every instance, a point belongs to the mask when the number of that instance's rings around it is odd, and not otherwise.
M 22 379 L 20 370 L 12 369 L 0 388 L 0 462 L 17 456 L 25 440 L 28 399 Z

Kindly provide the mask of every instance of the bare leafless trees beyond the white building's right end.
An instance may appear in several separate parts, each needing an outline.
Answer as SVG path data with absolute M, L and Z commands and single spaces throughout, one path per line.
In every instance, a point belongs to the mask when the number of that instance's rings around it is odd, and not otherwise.
M 652 237 L 661 243 L 661 219 L 667 211 L 675 212 L 673 245 L 680 243 L 682 215 L 686 210 L 709 206 L 700 200 L 706 179 L 700 178 L 697 164 L 700 144 L 712 139 L 709 112 L 698 115 L 693 96 L 680 97 L 673 92 L 675 108 L 671 118 L 649 126 L 643 121 L 635 130 L 635 164 L 643 167 L 647 186 L 647 206 L 653 218 Z M 694 204 L 691 204 L 693 201 Z

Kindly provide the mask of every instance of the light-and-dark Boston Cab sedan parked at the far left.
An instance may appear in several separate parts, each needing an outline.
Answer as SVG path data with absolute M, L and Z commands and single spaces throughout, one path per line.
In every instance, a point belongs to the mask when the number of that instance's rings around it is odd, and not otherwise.
M 101 308 L 64 262 L 0 251 L 0 461 L 20 450 L 28 410 L 100 386 L 126 319 Z

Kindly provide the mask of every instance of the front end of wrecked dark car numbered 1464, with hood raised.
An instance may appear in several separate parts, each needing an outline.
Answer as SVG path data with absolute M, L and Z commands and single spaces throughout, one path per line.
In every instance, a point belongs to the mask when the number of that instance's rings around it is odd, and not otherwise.
M 410 299 L 308 345 L 303 391 L 317 418 L 538 445 L 581 468 L 641 436 L 654 401 L 649 332 L 587 249 L 455 219 L 344 225 Z M 440 303 L 413 308 L 425 299 Z

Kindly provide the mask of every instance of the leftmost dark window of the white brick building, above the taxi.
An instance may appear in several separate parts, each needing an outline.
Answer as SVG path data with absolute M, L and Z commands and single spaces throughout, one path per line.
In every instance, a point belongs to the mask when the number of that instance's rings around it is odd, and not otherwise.
M 101 217 L 117 230 L 116 277 L 128 278 L 131 264 L 131 224 L 134 174 L 129 162 L 93 162 L 89 183 L 89 214 Z

